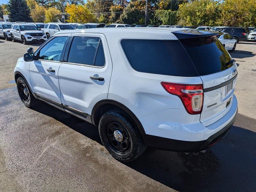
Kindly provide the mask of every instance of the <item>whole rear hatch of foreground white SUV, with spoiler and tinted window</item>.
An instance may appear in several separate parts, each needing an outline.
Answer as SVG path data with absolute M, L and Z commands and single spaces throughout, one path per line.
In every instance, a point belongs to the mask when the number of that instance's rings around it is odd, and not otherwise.
M 204 87 L 200 121 L 208 126 L 228 113 L 236 86 L 237 66 L 216 38 L 220 33 L 198 30 L 173 32 L 186 50 Z

